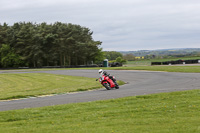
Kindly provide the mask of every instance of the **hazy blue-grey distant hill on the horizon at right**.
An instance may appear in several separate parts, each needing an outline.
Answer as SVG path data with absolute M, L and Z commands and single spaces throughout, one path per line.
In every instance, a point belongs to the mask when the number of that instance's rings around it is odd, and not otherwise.
M 133 54 L 134 56 L 146 55 L 194 55 L 200 53 L 200 48 L 177 48 L 177 49 L 160 49 L 160 50 L 139 50 L 139 51 L 117 51 L 125 54 Z

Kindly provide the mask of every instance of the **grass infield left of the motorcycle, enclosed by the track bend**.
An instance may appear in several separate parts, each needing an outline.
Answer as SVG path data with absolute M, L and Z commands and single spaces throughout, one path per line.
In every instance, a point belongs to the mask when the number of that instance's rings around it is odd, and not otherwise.
M 123 84 L 123 82 L 119 82 Z M 45 73 L 0 74 L 0 100 L 101 88 L 95 78 Z

